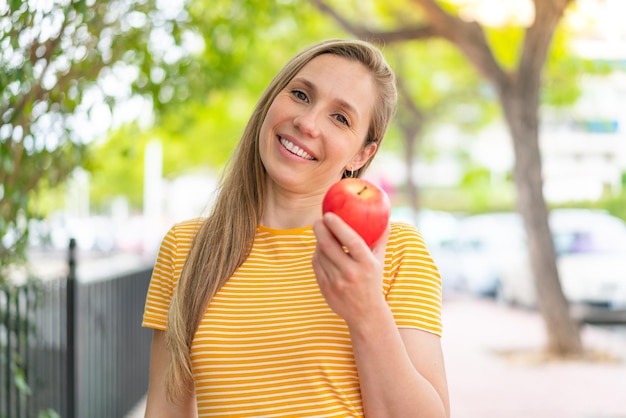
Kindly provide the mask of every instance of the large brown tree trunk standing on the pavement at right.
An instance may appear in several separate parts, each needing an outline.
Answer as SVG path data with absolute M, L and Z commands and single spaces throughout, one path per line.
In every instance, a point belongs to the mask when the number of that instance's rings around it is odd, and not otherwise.
M 583 348 L 560 284 L 543 196 L 539 93 L 552 37 L 569 1 L 535 0 L 535 21 L 526 31 L 517 73 L 494 83 L 513 139 L 517 207 L 528 236 L 534 287 L 548 337 L 546 349 L 561 356 L 580 355 Z

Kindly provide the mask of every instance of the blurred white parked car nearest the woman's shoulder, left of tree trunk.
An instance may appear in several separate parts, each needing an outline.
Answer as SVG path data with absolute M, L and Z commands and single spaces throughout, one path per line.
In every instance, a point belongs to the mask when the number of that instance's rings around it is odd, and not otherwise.
M 450 275 L 462 291 L 495 297 L 502 271 L 523 248 L 521 218 L 514 212 L 470 215 L 459 221 L 450 246 Z

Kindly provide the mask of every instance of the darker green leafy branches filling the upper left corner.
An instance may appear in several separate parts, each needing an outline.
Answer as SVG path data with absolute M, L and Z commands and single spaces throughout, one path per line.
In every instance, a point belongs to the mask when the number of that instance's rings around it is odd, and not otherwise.
M 188 61 L 168 55 L 184 56 L 183 21 L 156 0 L 0 5 L 0 280 L 24 260 L 42 180 L 63 183 L 88 156 L 96 111 L 124 99 L 111 82 L 134 77 L 155 103 L 182 96 L 176 77 L 155 74 L 184 75 Z

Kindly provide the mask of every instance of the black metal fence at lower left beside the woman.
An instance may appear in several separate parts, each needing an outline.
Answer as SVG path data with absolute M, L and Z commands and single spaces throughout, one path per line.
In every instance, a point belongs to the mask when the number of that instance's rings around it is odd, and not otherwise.
M 122 418 L 146 394 L 151 269 L 0 287 L 0 418 Z

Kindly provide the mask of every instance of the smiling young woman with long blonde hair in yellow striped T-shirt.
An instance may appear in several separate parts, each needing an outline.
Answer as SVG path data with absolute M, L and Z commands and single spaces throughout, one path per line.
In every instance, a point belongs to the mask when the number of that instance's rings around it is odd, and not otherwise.
M 331 40 L 262 95 L 211 214 L 165 236 L 143 326 L 146 417 L 448 417 L 441 280 L 419 232 L 369 248 L 331 184 L 359 176 L 396 104 L 381 52 Z

